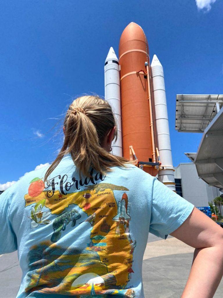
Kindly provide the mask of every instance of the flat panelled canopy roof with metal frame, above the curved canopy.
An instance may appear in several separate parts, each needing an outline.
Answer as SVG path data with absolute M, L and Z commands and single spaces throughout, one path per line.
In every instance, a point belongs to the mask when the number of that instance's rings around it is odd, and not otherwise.
M 180 132 L 201 132 L 223 105 L 223 94 L 177 94 L 175 129 Z

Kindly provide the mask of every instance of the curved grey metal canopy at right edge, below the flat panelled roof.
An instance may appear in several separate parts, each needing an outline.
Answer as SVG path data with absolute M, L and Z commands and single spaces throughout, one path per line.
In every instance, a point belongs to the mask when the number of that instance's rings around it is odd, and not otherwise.
M 223 188 L 223 108 L 205 129 L 194 162 L 202 180 Z

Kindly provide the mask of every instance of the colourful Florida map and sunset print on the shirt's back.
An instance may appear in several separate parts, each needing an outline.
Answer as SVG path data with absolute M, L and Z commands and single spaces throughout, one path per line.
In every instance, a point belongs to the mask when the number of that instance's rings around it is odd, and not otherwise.
M 51 229 L 49 239 L 36 243 L 27 255 L 26 293 L 134 298 L 133 286 L 128 287 L 136 247 L 128 189 L 103 183 L 100 176 L 101 182 L 68 193 L 70 182 L 55 190 L 55 179 L 45 187 L 42 179 L 34 178 L 24 196 L 30 229 Z M 83 233 L 88 233 L 83 236 L 85 247 L 78 247 L 76 239 L 65 246 L 70 237 L 81 239 Z

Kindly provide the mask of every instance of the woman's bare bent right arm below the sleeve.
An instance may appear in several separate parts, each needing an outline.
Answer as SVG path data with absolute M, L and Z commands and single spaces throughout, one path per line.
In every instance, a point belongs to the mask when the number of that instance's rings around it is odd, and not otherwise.
M 194 208 L 171 236 L 195 248 L 181 298 L 212 298 L 223 275 L 223 229 Z

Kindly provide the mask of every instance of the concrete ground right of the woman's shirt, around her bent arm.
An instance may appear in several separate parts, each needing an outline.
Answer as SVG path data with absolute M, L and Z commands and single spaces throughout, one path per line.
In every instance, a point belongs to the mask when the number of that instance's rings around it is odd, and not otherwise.
M 152 242 L 150 238 L 142 265 L 145 298 L 179 298 L 190 273 L 194 248 L 171 236 Z M 214 298 L 222 296 L 223 280 Z

